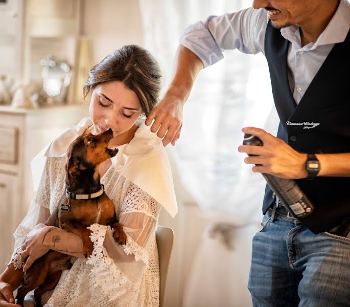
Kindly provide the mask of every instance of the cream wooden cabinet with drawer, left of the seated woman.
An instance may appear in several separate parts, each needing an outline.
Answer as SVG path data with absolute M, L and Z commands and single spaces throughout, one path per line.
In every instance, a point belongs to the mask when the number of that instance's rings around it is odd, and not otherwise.
M 0 270 L 13 250 L 12 234 L 34 196 L 30 161 L 55 136 L 86 116 L 87 106 L 0 107 Z

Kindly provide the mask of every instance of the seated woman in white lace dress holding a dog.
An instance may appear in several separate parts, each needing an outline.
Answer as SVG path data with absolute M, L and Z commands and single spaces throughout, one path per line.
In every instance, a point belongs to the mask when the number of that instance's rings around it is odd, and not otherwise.
M 49 249 L 77 258 L 70 270 L 63 271 L 45 306 L 159 305 L 155 230 L 161 206 L 174 216 L 177 205 L 161 139 L 140 117 L 147 116 L 158 101 L 160 78 L 153 56 L 135 45 L 112 52 L 90 70 L 84 86 L 85 96 L 91 94 L 90 118 L 64 131 L 33 160 L 41 180 L 27 216 L 15 231 L 15 252 L 0 276 L 0 306 L 15 305 L 12 291 L 20 286 L 22 266 L 27 270 Z M 116 243 L 109 226 L 91 225 L 94 251 L 85 259 L 80 237 L 42 223 L 64 192 L 68 145 L 79 135 L 108 128 L 113 130 L 109 144 L 119 152 L 102 163 L 99 172 L 127 243 Z

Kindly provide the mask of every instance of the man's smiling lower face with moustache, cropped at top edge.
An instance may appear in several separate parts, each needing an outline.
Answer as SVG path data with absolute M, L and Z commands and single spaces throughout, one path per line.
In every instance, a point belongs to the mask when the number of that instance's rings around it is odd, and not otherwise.
M 305 23 L 316 10 L 317 3 L 310 0 L 254 0 L 253 8 L 265 8 L 272 26 L 284 28 Z

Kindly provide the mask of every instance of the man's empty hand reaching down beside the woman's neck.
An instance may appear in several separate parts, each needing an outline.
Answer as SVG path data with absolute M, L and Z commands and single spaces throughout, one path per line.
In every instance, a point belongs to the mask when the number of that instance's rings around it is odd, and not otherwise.
M 183 103 L 176 95 L 168 92 L 146 119 L 147 126 L 154 120 L 151 131 L 156 132 L 159 129 L 157 136 L 162 139 L 164 147 L 170 142 L 175 146 L 175 142 L 180 137 Z

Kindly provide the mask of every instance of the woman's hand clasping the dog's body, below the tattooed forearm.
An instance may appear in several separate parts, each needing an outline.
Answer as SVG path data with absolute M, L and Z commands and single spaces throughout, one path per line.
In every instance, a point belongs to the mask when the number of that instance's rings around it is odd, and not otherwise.
M 50 247 L 44 245 L 44 239 L 46 234 L 55 228 L 56 227 L 46 226 L 45 224 L 38 224 L 27 234 L 26 241 L 22 244 L 23 251 L 20 254 L 21 261 L 27 259 L 23 272 L 26 272 L 36 259 L 50 250 Z

